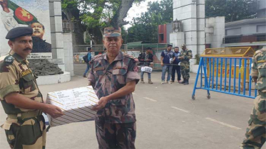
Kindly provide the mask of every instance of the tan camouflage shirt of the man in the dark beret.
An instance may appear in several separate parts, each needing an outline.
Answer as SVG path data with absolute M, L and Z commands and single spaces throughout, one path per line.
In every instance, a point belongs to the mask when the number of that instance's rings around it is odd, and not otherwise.
M 23 109 L 6 103 L 4 97 L 12 92 L 19 92 L 29 99 L 43 102 L 36 78 L 29 69 L 29 61 L 23 60 L 11 50 L 9 55 L 0 57 L 0 100 L 6 114 L 20 114 L 34 109 Z

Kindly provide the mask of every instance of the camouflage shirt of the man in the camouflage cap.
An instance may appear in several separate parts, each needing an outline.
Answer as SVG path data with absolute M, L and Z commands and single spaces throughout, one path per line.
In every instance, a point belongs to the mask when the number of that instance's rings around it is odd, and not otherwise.
M 125 87 L 128 82 L 136 80 L 138 83 L 140 79 L 135 60 L 122 52 L 116 56 L 111 64 L 108 62 L 106 53 L 94 57 L 91 63 L 88 81 L 93 84 L 93 89 L 99 99 Z M 108 101 L 106 106 L 97 112 L 96 121 L 105 121 L 106 123 L 135 122 L 135 103 L 132 94 Z

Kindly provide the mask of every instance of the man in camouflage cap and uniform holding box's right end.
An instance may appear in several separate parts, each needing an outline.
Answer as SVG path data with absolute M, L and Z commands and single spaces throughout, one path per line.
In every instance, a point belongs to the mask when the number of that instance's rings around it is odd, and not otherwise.
M 132 92 L 138 83 L 138 67 L 133 57 L 120 51 L 121 28 L 104 29 L 107 53 L 91 60 L 88 85 L 98 98 L 96 136 L 98 148 L 135 148 L 135 104 Z

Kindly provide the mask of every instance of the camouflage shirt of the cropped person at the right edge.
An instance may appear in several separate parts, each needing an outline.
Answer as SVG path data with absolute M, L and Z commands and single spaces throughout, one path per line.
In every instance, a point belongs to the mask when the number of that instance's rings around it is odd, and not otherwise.
M 250 76 L 257 77 L 255 88 L 266 92 L 266 49 L 257 50 L 252 57 Z

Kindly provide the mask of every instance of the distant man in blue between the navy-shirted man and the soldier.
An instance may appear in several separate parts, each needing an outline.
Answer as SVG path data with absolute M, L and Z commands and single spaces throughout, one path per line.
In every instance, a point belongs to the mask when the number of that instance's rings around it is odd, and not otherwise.
M 180 60 L 178 59 L 178 57 L 180 57 L 180 52 L 179 52 L 179 48 L 175 47 L 175 53 L 173 53 L 175 55 L 175 60 L 173 61 L 173 70 L 172 70 L 172 78 L 171 78 L 171 82 L 175 82 L 175 72 L 177 72 L 178 74 L 178 82 L 180 82 L 181 80 L 181 73 L 180 73 L 180 66 L 178 65 Z

